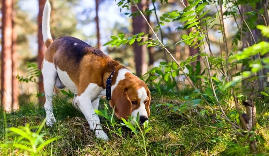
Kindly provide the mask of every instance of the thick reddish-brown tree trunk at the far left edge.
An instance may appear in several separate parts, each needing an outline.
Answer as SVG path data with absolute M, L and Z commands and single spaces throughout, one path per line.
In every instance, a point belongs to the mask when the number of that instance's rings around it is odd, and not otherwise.
M 1 106 L 12 104 L 12 1 L 2 0 Z

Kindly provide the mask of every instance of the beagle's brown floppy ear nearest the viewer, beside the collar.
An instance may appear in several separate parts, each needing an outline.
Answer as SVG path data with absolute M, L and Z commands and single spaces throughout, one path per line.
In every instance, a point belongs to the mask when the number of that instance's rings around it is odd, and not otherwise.
M 115 107 L 115 115 L 117 118 L 128 119 L 128 116 L 132 113 L 132 103 L 129 99 L 127 88 L 118 85 L 113 90 L 109 105 L 112 109 Z

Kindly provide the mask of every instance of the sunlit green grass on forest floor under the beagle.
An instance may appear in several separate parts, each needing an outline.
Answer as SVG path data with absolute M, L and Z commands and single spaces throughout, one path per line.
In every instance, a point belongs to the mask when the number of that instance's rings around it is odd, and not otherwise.
M 249 154 L 247 147 L 242 143 L 243 140 L 240 140 L 231 129 L 216 132 L 216 129 L 197 125 L 178 114 L 172 113 L 165 106 L 155 107 L 162 101 L 179 105 L 184 100 L 184 96 L 191 92 L 190 90 L 179 93 L 162 90 L 162 98 L 157 91 L 152 90 L 151 92 L 152 103 L 149 126 L 152 129 L 145 134 L 145 146 L 148 155 L 188 155 L 197 144 L 212 134 L 199 144 L 191 155 Z M 109 141 L 104 142 L 94 137 L 94 133 L 89 129 L 82 113 L 71 105 L 71 99 L 57 96 L 54 98 L 54 106 L 57 122 L 52 128 L 45 126 L 42 133 L 46 133 L 44 140 L 54 137 L 57 137 L 58 140 L 44 147 L 39 153 L 40 155 L 145 155 L 142 133 L 135 135 L 129 128 L 122 127 L 121 137 L 109 130 L 113 127 L 107 119 L 100 117 L 104 131 L 109 137 Z M 100 109 L 107 106 L 106 100 L 100 101 Z M 210 116 L 201 116 L 197 109 L 192 112 L 193 118 L 200 123 L 213 125 Z M 0 138 L 1 143 L 5 143 L 5 137 L 7 137 L 7 140 L 12 140 L 15 135 L 5 135 L 3 112 L 0 115 Z M 43 109 L 33 105 L 24 106 L 19 112 L 6 114 L 6 123 L 7 127 L 24 126 L 26 123 L 35 126 L 40 125 L 44 117 L 45 111 Z M 116 120 L 116 122 L 121 123 L 122 121 Z M 259 123 L 263 127 L 264 138 L 268 139 L 268 118 L 263 118 Z M 268 145 L 263 147 L 264 153 L 269 151 Z M 17 155 L 20 151 L 16 148 L 0 147 L 0 155 L 8 153 Z

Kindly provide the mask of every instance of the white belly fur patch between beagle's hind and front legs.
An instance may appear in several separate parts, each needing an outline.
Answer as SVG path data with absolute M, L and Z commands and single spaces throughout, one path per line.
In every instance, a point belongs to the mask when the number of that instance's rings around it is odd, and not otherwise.
M 67 89 L 69 89 L 72 92 L 74 92 L 75 94 L 77 94 L 77 92 L 78 92 L 77 87 L 76 87 L 75 83 L 70 79 L 67 72 L 62 71 L 59 67 L 57 67 L 56 71 L 58 73 L 58 76 L 59 76 L 62 84 L 64 84 Z

